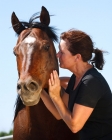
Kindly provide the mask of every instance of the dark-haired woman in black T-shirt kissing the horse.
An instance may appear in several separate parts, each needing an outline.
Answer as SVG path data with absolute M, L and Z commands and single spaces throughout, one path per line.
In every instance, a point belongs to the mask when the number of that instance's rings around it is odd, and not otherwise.
M 49 95 L 41 94 L 44 104 L 73 133 L 79 132 L 81 140 L 112 140 L 112 94 L 97 71 L 103 69 L 103 51 L 94 49 L 86 33 L 69 30 L 61 35 L 57 57 L 60 67 L 73 74 L 61 92 L 57 72 L 51 73 Z

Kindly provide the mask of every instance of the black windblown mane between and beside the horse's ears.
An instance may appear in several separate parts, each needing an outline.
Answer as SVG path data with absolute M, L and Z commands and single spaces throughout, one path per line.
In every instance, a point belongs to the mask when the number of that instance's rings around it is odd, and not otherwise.
M 39 29 L 45 31 L 46 34 L 48 35 L 48 37 L 52 39 L 52 41 L 58 42 L 58 36 L 56 35 L 56 30 L 57 29 L 55 27 L 50 27 L 50 26 L 42 24 L 42 23 L 40 23 L 38 21 L 35 21 L 39 17 L 40 16 L 38 16 L 38 13 L 35 13 L 35 14 L 33 14 L 31 16 L 29 22 L 20 21 L 20 23 L 24 26 L 24 29 L 27 29 L 27 28 L 39 28 Z

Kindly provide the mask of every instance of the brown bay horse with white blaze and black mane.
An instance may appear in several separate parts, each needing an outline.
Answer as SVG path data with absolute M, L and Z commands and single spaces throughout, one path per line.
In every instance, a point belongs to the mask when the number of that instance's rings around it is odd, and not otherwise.
M 18 35 L 13 51 L 19 77 L 13 140 L 78 140 L 78 134 L 73 134 L 64 121 L 56 120 L 40 99 L 42 89 L 48 91 L 50 73 L 54 69 L 59 72 L 54 47 L 58 37 L 49 26 L 49 12 L 42 6 L 40 15 L 34 14 L 29 22 L 19 21 L 13 12 L 11 23 Z M 66 88 L 69 77 L 60 79 Z

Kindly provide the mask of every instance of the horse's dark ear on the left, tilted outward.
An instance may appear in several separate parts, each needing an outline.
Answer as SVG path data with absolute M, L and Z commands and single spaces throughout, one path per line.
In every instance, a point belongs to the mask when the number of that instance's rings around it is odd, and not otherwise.
M 13 12 L 11 16 L 11 22 L 12 22 L 12 27 L 14 31 L 19 35 L 25 27 L 22 25 L 22 23 L 19 21 L 17 18 L 16 14 Z

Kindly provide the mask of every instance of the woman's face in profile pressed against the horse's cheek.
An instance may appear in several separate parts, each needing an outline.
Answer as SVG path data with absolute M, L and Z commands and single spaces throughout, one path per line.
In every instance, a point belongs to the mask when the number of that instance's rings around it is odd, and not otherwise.
M 59 59 L 60 67 L 65 69 L 71 69 L 74 66 L 74 56 L 68 50 L 68 40 L 61 40 L 59 43 L 59 52 L 57 58 Z

